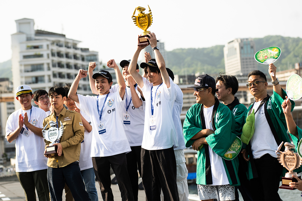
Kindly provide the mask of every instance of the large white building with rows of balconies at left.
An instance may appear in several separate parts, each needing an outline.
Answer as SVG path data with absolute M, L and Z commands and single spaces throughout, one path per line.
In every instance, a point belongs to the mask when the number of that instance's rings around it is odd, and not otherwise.
M 80 41 L 64 34 L 34 30 L 34 20 L 15 20 L 17 33 L 11 35 L 13 88 L 21 84 L 32 90 L 49 90 L 54 84 L 71 84 L 79 69 L 88 70 L 89 62 L 101 68 L 98 52 L 79 48 Z M 88 77 L 82 78 L 77 93 L 90 95 Z M 15 100 L 16 101 L 16 100 Z M 15 102 L 15 109 L 20 108 Z

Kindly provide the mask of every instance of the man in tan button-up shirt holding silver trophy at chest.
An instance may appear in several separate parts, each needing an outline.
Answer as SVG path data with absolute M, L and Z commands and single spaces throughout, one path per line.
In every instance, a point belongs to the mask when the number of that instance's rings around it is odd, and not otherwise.
M 73 110 L 66 110 L 63 102 L 66 101 L 66 91 L 62 86 L 55 85 L 48 91 L 50 103 L 54 108 L 43 121 L 45 130 L 48 130 L 50 122 L 56 122 L 59 128 L 63 124 L 63 134 L 54 145 L 57 146 L 58 156 L 48 158 L 47 180 L 51 200 L 62 200 L 65 182 L 75 200 L 91 200 L 87 191 L 79 167 L 81 142 L 84 139 L 84 127 L 80 115 Z M 45 140 L 46 146 L 50 144 Z M 46 152 L 46 147 L 45 147 Z M 44 152 L 44 153 L 45 153 Z M 63 153 L 63 154 L 62 154 Z

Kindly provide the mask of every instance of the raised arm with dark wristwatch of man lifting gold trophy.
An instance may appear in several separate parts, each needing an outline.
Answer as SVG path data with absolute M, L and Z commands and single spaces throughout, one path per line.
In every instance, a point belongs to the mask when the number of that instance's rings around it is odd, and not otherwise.
M 157 46 L 156 36 L 154 33 L 151 33 L 151 32 L 149 32 L 148 35 L 150 36 L 150 39 L 149 39 L 150 46 L 153 49 Z M 156 64 L 158 65 L 160 74 L 162 75 L 162 81 L 167 85 L 168 88 L 170 88 L 170 78 L 169 78 L 169 74 L 166 70 L 165 60 L 162 57 L 162 54 L 159 52 L 158 49 L 154 50 L 154 55 L 155 55 Z

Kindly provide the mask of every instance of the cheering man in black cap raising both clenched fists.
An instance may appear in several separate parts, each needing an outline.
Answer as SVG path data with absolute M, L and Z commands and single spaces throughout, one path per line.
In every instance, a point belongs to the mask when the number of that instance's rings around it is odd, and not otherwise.
M 116 92 L 110 92 L 111 74 L 101 70 L 92 75 L 98 96 L 76 94 L 80 79 L 87 77 L 87 71 L 80 69 L 70 87 L 68 97 L 76 102 L 76 106 L 89 115 L 92 121 L 91 157 L 103 200 L 114 199 L 110 167 L 117 178 L 122 200 L 133 200 L 126 159 L 126 153 L 131 149 L 121 121 L 121 112 L 125 106 L 126 84 L 114 59 L 109 60 L 107 66 L 114 68 L 119 84 Z

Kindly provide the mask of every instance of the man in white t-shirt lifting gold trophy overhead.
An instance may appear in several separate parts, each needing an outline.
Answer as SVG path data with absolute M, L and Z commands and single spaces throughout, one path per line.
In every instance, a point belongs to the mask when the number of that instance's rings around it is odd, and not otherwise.
M 141 151 L 142 180 L 146 200 L 160 200 L 161 189 L 164 200 L 179 200 L 176 184 L 176 160 L 173 148 L 178 147 L 176 130 L 172 118 L 172 107 L 176 90 L 165 68 L 165 61 L 156 46 L 156 36 L 148 33 L 155 59 L 143 62 L 146 77 L 136 71 L 137 58 L 146 46 L 137 46 L 128 71 L 146 99 L 145 124 Z M 167 162 L 169 161 L 169 162 Z

